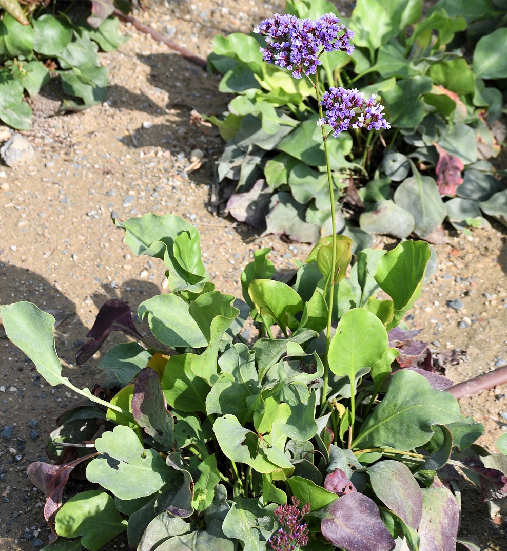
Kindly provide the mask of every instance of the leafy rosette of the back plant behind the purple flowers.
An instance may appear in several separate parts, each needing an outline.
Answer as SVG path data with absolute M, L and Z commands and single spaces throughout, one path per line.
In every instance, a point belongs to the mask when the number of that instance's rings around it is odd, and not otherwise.
M 431 240 L 457 229 L 507 223 L 507 186 L 488 159 L 504 140 L 507 12 L 502 0 L 359 0 L 350 18 L 355 51 L 321 57 L 319 81 L 379 94 L 391 130 L 329 139 L 337 228 L 359 246 L 369 234 Z M 325 0 L 289 0 L 286 11 L 318 18 Z M 314 242 L 329 234 L 330 208 L 317 102 L 308 79 L 263 62 L 263 37 L 216 36 L 211 70 L 235 94 L 209 117 L 226 141 L 216 180 L 233 217 L 265 233 Z M 232 196 L 231 196 L 232 193 Z

